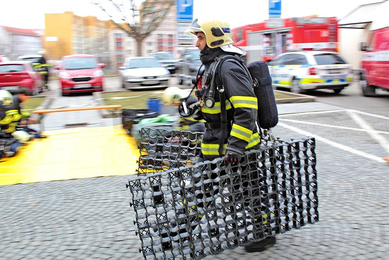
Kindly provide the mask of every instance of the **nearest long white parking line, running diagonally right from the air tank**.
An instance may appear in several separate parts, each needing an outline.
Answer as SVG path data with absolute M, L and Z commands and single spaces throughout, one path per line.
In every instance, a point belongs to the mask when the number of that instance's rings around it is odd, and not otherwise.
M 384 159 L 382 159 L 382 158 L 380 158 L 378 156 L 375 156 L 375 155 L 372 155 L 372 154 L 369 154 L 369 153 L 366 153 L 366 152 L 363 152 L 363 151 L 359 151 L 359 150 L 353 149 L 351 147 L 348 147 L 348 146 L 345 146 L 345 145 L 342 145 L 342 144 L 338 144 L 336 142 L 328 140 L 327 138 L 318 136 L 316 134 L 310 133 L 310 132 L 302 130 L 300 128 L 292 127 L 292 126 L 289 126 L 289 125 L 287 125 L 285 123 L 282 123 L 282 122 L 279 122 L 278 126 L 281 126 L 283 128 L 286 128 L 286 129 L 298 132 L 298 133 L 303 134 L 303 135 L 313 136 L 313 137 L 315 137 L 316 140 L 318 140 L 320 142 L 332 145 L 332 146 L 334 146 L 334 147 L 336 147 L 338 149 L 342 149 L 342 150 L 354 153 L 356 155 L 363 156 L 363 157 L 368 158 L 370 160 L 374 160 L 374 161 L 379 162 L 379 163 L 386 163 L 386 161 Z

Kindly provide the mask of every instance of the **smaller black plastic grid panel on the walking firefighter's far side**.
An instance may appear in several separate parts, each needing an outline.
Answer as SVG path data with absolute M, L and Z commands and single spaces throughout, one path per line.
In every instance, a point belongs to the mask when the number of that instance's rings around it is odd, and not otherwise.
M 142 128 L 138 174 L 195 164 L 200 153 L 202 132 Z

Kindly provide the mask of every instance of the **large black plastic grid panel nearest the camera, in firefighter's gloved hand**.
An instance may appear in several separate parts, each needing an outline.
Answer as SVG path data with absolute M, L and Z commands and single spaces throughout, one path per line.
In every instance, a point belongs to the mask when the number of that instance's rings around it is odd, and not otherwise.
M 318 221 L 315 140 L 129 180 L 145 259 L 201 259 Z

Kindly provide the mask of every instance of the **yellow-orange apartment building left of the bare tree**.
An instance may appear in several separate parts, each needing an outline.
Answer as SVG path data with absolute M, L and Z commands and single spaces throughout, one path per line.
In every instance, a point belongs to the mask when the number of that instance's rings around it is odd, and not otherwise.
M 100 62 L 109 60 L 108 36 L 113 24 L 94 16 L 73 12 L 45 14 L 44 47 L 50 59 L 65 55 L 94 54 Z M 106 60 L 106 61 L 105 61 Z

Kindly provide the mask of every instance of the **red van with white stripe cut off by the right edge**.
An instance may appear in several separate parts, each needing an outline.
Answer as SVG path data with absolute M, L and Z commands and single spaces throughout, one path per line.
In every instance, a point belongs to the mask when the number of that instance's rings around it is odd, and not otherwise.
M 385 4 L 389 6 L 389 3 Z M 386 25 L 380 26 L 379 22 L 373 22 L 369 43 L 361 44 L 361 51 L 364 53 L 361 61 L 360 83 L 364 96 L 375 95 L 376 89 L 389 92 L 389 27 L 384 26 Z

